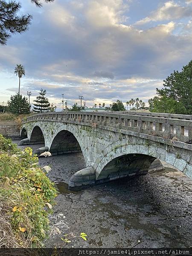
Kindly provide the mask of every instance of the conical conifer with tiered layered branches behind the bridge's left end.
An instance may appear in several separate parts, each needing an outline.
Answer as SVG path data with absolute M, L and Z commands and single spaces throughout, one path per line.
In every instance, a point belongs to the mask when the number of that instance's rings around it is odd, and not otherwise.
M 34 112 L 41 113 L 49 111 L 50 103 L 47 97 L 45 97 L 46 93 L 47 91 L 41 88 L 39 96 L 36 96 L 36 99 L 34 100 L 34 102 L 36 103 L 33 103 L 33 105 L 35 106 L 33 108 Z

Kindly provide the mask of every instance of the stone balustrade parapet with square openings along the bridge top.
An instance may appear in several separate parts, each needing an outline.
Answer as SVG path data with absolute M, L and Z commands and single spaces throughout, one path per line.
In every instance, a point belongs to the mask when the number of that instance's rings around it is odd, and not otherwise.
M 152 115 L 152 116 L 151 116 Z M 59 121 L 83 125 L 108 126 L 180 142 L 192 140 L 192 116 L 145 112 L 50 112 L 29 116 L 24 122 Z M 23 123 L 24 123 L 23 122 Z

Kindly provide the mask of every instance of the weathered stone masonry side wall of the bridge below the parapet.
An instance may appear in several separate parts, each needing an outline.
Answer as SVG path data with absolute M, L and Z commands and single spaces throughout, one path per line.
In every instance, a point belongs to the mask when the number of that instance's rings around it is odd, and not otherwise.
M 93 167 L 96 171 L 96 180 L 104 179 L 106 175 L 110 175 L 110 171 L 104 169 L 105 166 L 114 158 L 126 154 L 143 154 L 159 158 L 192 177 L 191 145 L 177 141 L 172 142 L 151 135 L 118 130 L 116 127 L 104 127 L 103 125 L 94 127 L 91 124 L 84 125 L 76 121 L 62 122 L 59 120 L 34 120 L 23 123 L 22 127 L 26 128 L 29 138 L 36 125 L 41 128 L 45 146 L 49 150 L 60 131 L 70 131 L 80 145 L 86 167 Z

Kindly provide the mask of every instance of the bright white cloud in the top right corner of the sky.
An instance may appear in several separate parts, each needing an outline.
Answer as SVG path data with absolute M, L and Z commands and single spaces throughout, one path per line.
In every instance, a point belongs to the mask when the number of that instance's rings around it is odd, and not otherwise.
M 142 20 L 136 22 L 137 25 L 142 25 L 150 21 L 161 21 L 161 20 L 177 20 L 182 17 L 189 17 L 192 15 L 191 7 L 179 6 L 174 1 L 169 1 L 164 3 L 159 9 L 151 14 L 148 17 L 145 17 Z

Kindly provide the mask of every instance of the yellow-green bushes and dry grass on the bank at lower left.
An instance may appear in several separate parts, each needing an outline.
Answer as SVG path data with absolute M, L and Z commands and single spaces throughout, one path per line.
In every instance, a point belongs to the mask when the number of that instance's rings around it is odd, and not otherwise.
M 41 247 L 57 194 L 54 183 L 32 156 L 32 148 L 21 151 L 0 136 L 0 153 L 0 204 L 10 218 L 14 240 L 20 247 Z

